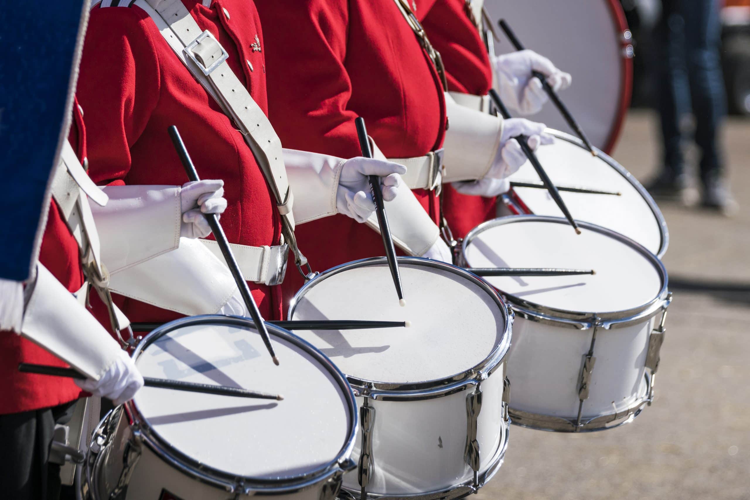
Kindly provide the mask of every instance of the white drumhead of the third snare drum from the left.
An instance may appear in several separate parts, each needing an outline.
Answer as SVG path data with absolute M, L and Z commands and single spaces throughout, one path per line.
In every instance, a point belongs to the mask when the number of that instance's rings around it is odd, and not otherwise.
M 513 218 L 470 241 L 469 267 L 593 269 L 596 274 L 487 277 L 503 294 L 557 310 L 613 313 L 643 307 L 661 292 L 660 268 L 624 241 L 584 227 L 576 235 L 567 223 Z

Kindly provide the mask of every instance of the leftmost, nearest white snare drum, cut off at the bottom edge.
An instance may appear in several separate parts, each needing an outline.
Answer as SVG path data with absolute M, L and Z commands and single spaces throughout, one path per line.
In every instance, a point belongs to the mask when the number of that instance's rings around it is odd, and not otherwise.
M 254 400 L 142 388 L 102 421 L 84 492 L 106 500 L 332 500 L 356 436 L 356 401 L 317 349 L 268 325 L 281 366 L 249 319 L 193 316 L 133 352 L 143 376 L 282 394 Z

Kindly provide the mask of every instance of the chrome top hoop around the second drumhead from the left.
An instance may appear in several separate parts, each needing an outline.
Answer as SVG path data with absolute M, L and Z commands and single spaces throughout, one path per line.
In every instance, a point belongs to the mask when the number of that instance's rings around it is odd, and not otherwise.
M 496 289 L 490 286 L 489 283 L 482 280 L 480 277 L 475 276 L 469 272 L 466 272 L 463 268 L 458 268 L 455 265 L 447 264 L 446 262 L 440 262 L 432 259 L 423 259 L 422 257 L 404 257 L 399 256 L 398 262 L 400 265 L 422 265 L 427 268 L 440 269 L 442 271 L 449 271 L 453 274 L 466 278 L 470 282 L 479 286 L 490 298 L 495 301 L 497 307 L 502 313 L 502 319 L 505 324 L 505 329 L 502 332 L 502 340 L 493 348 L 489 355 L 484 360 L 476 364 L 474 367 L 464 370 L 463 372 L 456 373 L 452 376 L 446 376 L 442 379 L 426 380 L 424 382 L 378 382 L 376 380 L 360 379 L 356 376 L 347 375 L 347 380 L 352 386 L 357 396 L 370 396 L 373 394 L 374 397 L 388 398 L 394 397 L 399 400 L 423 400 L 423 399 L 434 399 L 441 396 L 447 396 L 455 392 L 463 390 L 464 386 L 472 383 L 472 379 L 484 379 L 492 373 L 496 367 L 498 367 L 502 361 L 505 360 L 505 356 L 508 355 L 508 349 L 511 345 L 511 326 L 512 319 L 508 315 L 508 308 L 505 305 L 505 301 L 502 300 Z M 296 309 L 299 301 L 315 286 L 319 281 L 325 280 L 327 277 L 334 276 L 344 271 L 348 271 L 354 268 L 364 268 L 373 265 L 387 265 L 386 257 L 371 257 L 369 259 L 359 259 L 352 262 L 346 262 L 338 265 L 334 268 L 330 268 L 327 271 L 314 277 L 312 280 L 305 283 L 301 289 L 294 295 L 290 302 L 289 312 L 287 314 L 288 319 L 292 319 L 294 316 L 294 310 Z

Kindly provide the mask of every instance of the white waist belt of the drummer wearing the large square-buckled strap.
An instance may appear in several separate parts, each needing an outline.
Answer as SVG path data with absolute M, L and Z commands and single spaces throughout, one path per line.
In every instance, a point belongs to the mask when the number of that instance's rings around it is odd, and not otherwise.
M 224 262 L 221 249 L 216 241 L 201 241 L 208 250 L 211 250 L 211 253 L 214 253 L 221 262 Z M 281 285 L 281 282 L 284 281 L 284 274 L 287 272 L 289 245 L 249 247 L 248 245 L 230 243 L 229 247 L 232 248 L 232 253 L 245 280 L 269 286 Z

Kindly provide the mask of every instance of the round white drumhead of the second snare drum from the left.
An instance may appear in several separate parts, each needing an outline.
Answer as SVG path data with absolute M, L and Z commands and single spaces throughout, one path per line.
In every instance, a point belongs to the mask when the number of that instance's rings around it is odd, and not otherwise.
M 410 328 L 295 333 L 348 376 L 385 383 L 445 379 L 477 366 L 501 343 L 505 319 L 486 289 L 444 269 L 399 268 L 405 307 L 388 266 L 368 264 L 309 283 L 293 319 L 410 321 Z

